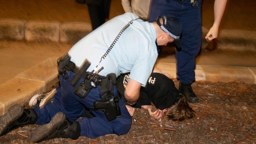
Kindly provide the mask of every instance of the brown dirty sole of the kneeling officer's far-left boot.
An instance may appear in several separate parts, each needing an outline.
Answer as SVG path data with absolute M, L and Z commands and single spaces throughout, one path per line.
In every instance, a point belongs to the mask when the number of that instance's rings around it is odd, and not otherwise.
M 0 137 L 6 134 L 9 130 L 9 125 L 16 122 L 22 115 L 23 111 L 24 109 L 21 105 L 15 104 L 8 109 L 7 113 L 0 116 Z

